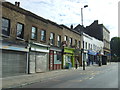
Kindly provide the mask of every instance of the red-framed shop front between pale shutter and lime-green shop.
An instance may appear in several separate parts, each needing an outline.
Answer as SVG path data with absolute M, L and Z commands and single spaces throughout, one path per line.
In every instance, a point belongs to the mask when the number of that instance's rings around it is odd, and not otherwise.
M 49 70 L 62 69 L 62 49 L 51 47 L 49 51 Z

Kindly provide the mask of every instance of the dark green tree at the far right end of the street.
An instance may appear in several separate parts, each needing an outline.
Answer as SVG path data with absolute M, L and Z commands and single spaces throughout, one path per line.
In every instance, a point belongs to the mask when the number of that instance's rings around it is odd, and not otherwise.
M 120 37 L 113 37 L 110 41 L 111 56 L 114 61 L 120 61 Z

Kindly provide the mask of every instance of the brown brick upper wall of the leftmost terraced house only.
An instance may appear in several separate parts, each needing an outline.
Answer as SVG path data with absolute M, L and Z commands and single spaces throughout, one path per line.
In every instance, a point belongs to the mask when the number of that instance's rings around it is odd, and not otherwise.
M 2 17 L 10 19 L 10 37 L 9 40 L 15 40 L 16 39 L 16 25 L 17 23 L 22 23 L 26 25 L 25 23 L 25 15 L 19 12 L 14 11 L 13 9 L 2 7 Z M 24 30 L 25 31 L 25 30 Z M 25 37 L 26 35 L 24 35 Z

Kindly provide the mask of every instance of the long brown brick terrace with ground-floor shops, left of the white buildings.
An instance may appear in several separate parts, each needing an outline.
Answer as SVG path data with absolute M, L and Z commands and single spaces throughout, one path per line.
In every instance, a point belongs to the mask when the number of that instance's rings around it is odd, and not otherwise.
M 0 6 L 3 77 L 75 67 L 76 60 L 78 66 L 83 65 L 83 33 L 77 30 L 79 27 L 58 25 L 22 9 L 17 2 L 15 5 L 3 2 Z M 80 29 L 86 30 L 83 26 Z M 90 37 L 95 36 L 90 34 Z M 108 40 L 95 38 L 107 42 L 106 47 L 97 48 L 103 55 L 110 54 L 109 37 Z M 89 46 L 92 51 L 92 44 Z

